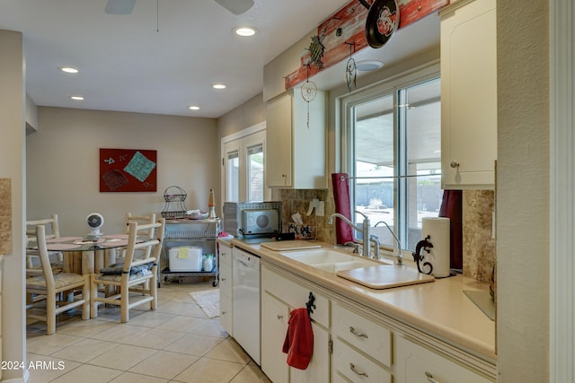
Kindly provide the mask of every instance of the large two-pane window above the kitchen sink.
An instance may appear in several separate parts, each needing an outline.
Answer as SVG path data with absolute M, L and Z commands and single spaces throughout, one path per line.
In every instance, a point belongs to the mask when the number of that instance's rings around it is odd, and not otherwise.
M 355 221 L 365 214 L 370 232 L 394 248 L 385 222 L 414 250 L 421 218 L 437 217 L 441 205 L 440 80 L 437 71 L 408 77 L 348 96 L 343 109 Z

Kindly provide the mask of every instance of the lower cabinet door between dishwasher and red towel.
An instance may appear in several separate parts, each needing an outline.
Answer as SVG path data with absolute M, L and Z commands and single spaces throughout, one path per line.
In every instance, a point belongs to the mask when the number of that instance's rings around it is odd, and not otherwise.
M 261 370 L 274 383 L 288 383 L 287 354 L 281 349 L 288 332 L 289 308 L 267 292 L 261 293 Z

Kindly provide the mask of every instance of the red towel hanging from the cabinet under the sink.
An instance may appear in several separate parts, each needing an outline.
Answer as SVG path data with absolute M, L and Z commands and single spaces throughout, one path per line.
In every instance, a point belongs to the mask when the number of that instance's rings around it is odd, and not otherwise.
M 289 313 L 288 333 L 281 351 L 288 354 L 288 365 L 307 369 L 314 353 L 314 331 L 307 309 L 292 309 Z

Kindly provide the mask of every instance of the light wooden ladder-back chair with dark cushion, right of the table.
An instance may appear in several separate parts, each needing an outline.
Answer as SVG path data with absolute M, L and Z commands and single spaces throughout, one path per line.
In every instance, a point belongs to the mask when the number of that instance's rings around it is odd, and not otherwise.
M 157 308 L 157 266 L 162 252 L 165 220 L 160 218 L 155 223 L 128 223 L 128 247 L 123 263 L 111 265 L 92 275 L 91 316 L 98 316 L 98 306 L 102 303 L 120 307 L 122 323 L 129 320 L 129 309 L 150 302 L 150 309 Z M 150 230 L 155 231 L 155 239 L 146 239 Z M 138 239 L 142 235 L 142 239 Z M 148 249 L 149 248 L 149 251 Z M 137 250 L 143 249 L 148 257 L 134 257 Z M 105 297 L 99 296 L 98 285 L 114 286 L 119 293 Z

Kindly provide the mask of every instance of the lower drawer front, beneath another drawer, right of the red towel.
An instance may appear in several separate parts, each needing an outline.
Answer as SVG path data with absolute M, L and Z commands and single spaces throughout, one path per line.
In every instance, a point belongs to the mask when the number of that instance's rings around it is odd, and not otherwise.
M 341 374 L 354 383 L 391 383 L 392 381 L 391 373 L 338 339 L 333 341 L 333 366 L 334 376 Z

